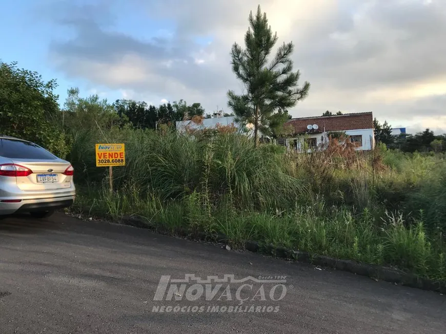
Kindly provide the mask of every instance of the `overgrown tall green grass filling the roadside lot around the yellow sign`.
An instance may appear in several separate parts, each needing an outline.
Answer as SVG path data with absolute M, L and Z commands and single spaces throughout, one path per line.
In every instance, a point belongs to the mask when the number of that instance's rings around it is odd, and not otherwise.
M 95 167 L 94 144 L 126 144 L 126 166 Z M 311 253 L 394 265 L 446 280 L 446 162 L 380 147 L 293 154 L 236 133 L 113 129 L 79 132 L 71 162 L 78 207 L 160 231 L 227 235 Z M 83 195 L 85 194 L 85 195 Z

